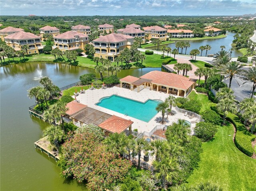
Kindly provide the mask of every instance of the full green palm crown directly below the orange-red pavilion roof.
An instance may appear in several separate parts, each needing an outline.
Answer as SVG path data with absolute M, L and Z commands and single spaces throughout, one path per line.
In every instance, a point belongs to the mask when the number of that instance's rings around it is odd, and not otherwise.
M 122 156 L 123 154 L 128 154 L 126 150 L 128 145 L 128 137 L 124 134 L 124 132 L 112 133 L 110 134 L 103 143 L 106 145 L 106 151 L 111 152 L 116 156 Z

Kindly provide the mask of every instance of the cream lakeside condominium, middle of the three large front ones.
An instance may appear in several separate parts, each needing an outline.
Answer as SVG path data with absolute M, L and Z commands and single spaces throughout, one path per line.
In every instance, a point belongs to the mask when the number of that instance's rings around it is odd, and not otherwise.
M 61 51 L 65 50 L 84 50 L 84 46 L 89 43 L 89 36 L 82 33 L 68 31 L 54 37 L 54 47 Z

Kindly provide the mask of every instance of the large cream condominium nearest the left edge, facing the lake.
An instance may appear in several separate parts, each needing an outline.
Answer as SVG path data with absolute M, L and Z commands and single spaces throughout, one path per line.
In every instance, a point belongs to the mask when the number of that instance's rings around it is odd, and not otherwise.
M 43 46 L 41 43 L 41 37 L 34 35 L 29 32 L 16 32 L 12 33 L 6 37 L 4 37 L 6 45 L 14 48 L 14 50 L 18 51 L 22 49 L 22 46 L 27 45 L 27 53 L 28 54 L 35 54 L 35 53 L 42 53 Z

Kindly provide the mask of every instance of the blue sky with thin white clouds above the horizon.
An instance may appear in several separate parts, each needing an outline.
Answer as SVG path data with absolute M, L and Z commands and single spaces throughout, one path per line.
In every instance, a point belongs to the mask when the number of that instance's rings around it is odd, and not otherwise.
M 0 15 L 242 15 L 256 0 L 0 0 Z

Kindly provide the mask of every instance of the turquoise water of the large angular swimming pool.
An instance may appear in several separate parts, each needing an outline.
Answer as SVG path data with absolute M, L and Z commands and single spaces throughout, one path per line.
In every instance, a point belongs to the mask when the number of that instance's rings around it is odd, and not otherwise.
M 161 100 L 147 100 L 139 102 L 118 95 L 100 99 L 96 105 L 125 114 L 127 116 L 149 122 L 156 114 L 156 106 Z

